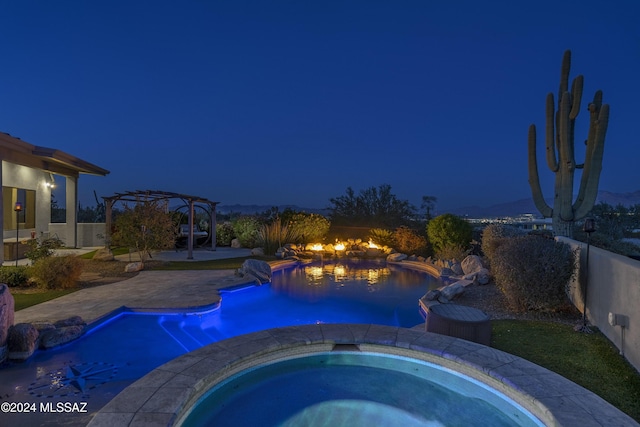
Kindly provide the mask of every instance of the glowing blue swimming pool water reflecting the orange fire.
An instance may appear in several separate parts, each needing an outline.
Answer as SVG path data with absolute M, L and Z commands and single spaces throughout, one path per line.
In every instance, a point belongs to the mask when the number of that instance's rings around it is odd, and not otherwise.
M 311 323 L 415 326 L 423 321 L 418 299 L 440 285 L 384 261 L 278 270 L 270 284 L 221 291 L 221 304 L 205 312 L 116 316 L 79 340 L 4 367 L 0 395 L 36 402 L 91 397 L 94 411 L 156 367 L 233 336 Z

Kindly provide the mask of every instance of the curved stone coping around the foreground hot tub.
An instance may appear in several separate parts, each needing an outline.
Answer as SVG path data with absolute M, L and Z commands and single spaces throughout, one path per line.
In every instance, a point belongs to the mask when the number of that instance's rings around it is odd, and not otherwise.
M 125 388 L 89 425 L 171 426 L 221 379 L 267 360 L 330 351 L 336 345 L 418 357 L 452 368 L 511 397 L 546 425 L 639 425 L 589 390 L 520 357 L 416 328 L 365 324 L 292 326 L 210 344 Z

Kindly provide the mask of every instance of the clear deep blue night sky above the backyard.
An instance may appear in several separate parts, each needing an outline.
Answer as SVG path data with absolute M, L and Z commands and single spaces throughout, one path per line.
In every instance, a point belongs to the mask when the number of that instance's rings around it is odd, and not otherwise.
M 381 184 L 439 209 L 528 198 L 528 126 L 543 135 L 566 49 L 585 76 L 577 141 L 594 92 L 611 105 L 600 189 L 640 189 L 637 0 L 24 0 L 0 16 L 0 131 L 110 170 L 81 176 L 85 205 L 152 189 L 322 208 Z

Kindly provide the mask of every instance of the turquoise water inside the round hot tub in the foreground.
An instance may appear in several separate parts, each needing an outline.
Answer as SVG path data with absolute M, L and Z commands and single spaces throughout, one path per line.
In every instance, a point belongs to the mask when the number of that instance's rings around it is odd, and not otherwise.
M 214 386 L 182 426 L 540 426 L 507 396 L 401 356 L 331 352 L 242 371 Z

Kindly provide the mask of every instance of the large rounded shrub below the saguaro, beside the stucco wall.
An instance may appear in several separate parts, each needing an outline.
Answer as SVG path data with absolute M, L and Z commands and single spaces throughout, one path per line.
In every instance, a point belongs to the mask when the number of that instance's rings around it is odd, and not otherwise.
M 504 238 L 491 260 L 498 288 L 516 311 L 559 311 L 570 305 L 566 287 L 575 273 L 569 245 L 545 237 Z

